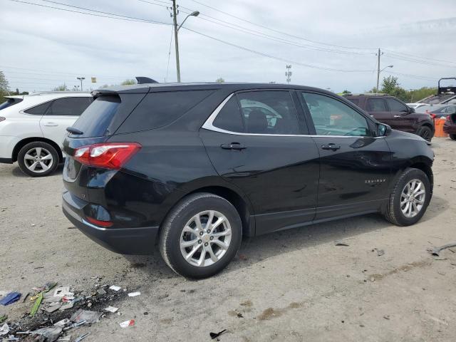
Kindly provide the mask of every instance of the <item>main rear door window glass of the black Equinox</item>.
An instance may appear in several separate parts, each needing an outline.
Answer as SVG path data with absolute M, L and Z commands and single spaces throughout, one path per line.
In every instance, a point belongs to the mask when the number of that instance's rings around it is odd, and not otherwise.
M 237 95 L 245 132 L 253 134 L 299 134 L 298 118 L 289 91 L 249 91 Z

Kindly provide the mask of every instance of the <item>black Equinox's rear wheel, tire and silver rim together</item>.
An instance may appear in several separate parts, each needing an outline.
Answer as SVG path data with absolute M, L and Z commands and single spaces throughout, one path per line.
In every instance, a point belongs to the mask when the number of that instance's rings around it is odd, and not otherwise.
M 210 193 L 182 199 L 162 224 L 160 254 L 177 274 L 193 279 L 222 271 L 242 240 L 242 222 L 234 206 Z

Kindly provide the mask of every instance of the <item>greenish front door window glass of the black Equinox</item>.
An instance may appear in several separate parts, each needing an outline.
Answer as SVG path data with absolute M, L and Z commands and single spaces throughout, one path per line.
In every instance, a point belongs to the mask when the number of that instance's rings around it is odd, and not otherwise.
M 368 121 L 345 103 L 325 95 L 302 93 L 317 135 L 371 136 Z

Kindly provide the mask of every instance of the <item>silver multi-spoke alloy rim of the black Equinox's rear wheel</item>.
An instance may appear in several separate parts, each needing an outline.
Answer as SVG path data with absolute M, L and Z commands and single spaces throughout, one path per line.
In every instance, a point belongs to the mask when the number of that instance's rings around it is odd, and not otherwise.
M 191 265 L 215 264 L 227 253 L 232 229 L 224 214 L 207 210 L 193 216 L 180 235 L 180 252 Z

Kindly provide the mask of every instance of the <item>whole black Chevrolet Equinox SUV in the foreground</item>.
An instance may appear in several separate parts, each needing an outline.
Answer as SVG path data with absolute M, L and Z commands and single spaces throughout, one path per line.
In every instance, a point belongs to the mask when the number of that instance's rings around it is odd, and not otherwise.
M 414 224 L 434 154 L 350 101 L 301 86 L 106 88 L 64 142 L 63 212 L 99 244 L 211 276 L 242 236 L 381 212 Z

